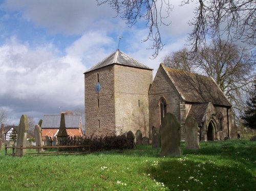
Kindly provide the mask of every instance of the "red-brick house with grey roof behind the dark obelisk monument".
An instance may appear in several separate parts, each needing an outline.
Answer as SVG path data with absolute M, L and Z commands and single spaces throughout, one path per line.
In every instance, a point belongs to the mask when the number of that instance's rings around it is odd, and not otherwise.
M 44 115 L 42 119 L 42 138 L 55 137 L 58 134 L 61 115 Z M 69 136 L 83 136 L 80 115 L 65 115 L 65 125 Z

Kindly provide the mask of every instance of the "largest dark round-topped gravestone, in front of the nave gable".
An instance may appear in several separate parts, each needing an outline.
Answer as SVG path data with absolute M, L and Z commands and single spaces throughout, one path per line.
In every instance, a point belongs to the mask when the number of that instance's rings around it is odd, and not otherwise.
M 161 156 L 180 156 L 180 124 L 172 113 L 166 113 L 160 130 L 161 134 Z

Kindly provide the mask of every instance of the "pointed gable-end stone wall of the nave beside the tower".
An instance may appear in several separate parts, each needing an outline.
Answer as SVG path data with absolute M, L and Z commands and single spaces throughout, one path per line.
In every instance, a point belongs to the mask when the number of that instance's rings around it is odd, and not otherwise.
M 150 130 L 155 127 L 156 130 L 159 131 L 161 125 L 160 99 L 162 97 L 167 102 L 167 113 L 173 113 L 180 123 L 180 103 L 182 103 L 182 98 L 161 66 L 150 87 L 148 97 L 150 105 Z

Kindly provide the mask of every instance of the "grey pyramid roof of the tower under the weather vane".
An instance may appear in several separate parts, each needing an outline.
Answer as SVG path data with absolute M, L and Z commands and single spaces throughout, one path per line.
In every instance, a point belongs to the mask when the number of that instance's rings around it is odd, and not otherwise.
M 142 69 L 150 69 L 153 70 L 152 68 L 149 68 L 145 66 L 144 64 L 138 62 L 134 58 L 126 55 L 120 50 L 116 50 L 116 52 L 112 53 L 93 67 L 91 67 L 89 70 L 87 70 L 85 73 L 88 73 L 89 71 L 93 71 L 95 69 L 99 69 L 104 66 L 108 66 L 111 64 L 119 64 L 119 65 L 124 65 L 124 66 L 130 66 L 130 67 L 137 67 L 137 68 L 142 68 Z

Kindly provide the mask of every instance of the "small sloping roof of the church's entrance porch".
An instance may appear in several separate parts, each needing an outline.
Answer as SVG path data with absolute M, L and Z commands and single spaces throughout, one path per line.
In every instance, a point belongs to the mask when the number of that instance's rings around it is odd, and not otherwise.
M 204 116 L 204 113 L 207 108 L 207 103 L 206 104 L 194 104 L 191 106 L 188 115 L 191 115 L 195 117 L 198 126 L 202 126 L 202 118 Z

